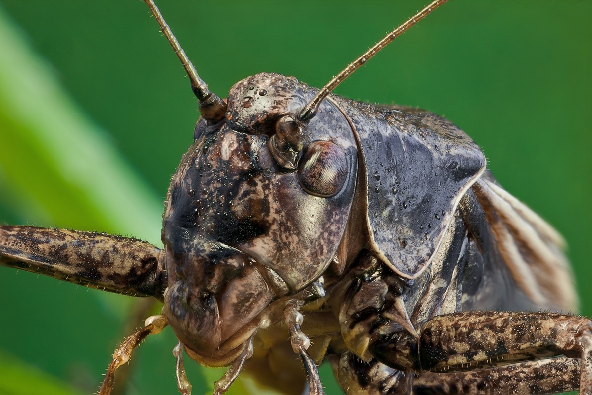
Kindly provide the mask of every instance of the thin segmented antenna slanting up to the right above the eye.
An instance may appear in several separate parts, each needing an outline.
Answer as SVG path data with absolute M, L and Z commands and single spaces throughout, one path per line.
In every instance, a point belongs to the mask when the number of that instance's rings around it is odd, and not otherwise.
M 404 24 L 400 25 L 395 30 L 391 31 L 391 33 L 387 34 L 386 37 L 382 38 L 382 40 L 378 41 L 378 43 L 374 44 L 374 46 L 364 52 L 362 56 L 358 57 L 358 59 L 350 63 L 348 67 L 343 69 L 342 72 L 333 77 L 333 79 L 329 81 L 329 84 L 323 86 L 323 88 L 318 91 L 315 97 L 304 106 L 302 111 L 300 111 L 300 114 L 298 114 L 298 120 L 303 123 L 308 123 L 308 121 L 310 121 L 314 115 L 317 114 L 318 106 L 321 104 L 321 101 L 323 101 L 323 99 L 326 98 L 331 93 L 331 91 L 333 91 L 333 89 L 337 88 L 337 85 L 345 81 L 345 79 L 352 75 L 355 70 L 361 68 L 372 56 L 390 44 L 392 40 L 403 34 L 408 28 L 421 21 L 428 14 L 430 14 L 430 12 L 440 7 L 440 5 L 443 5 L 447 1 L 448 0 L 433 1 L 423 8 L 422 11 L 417 12 L 417 14 L 409 18 Z

